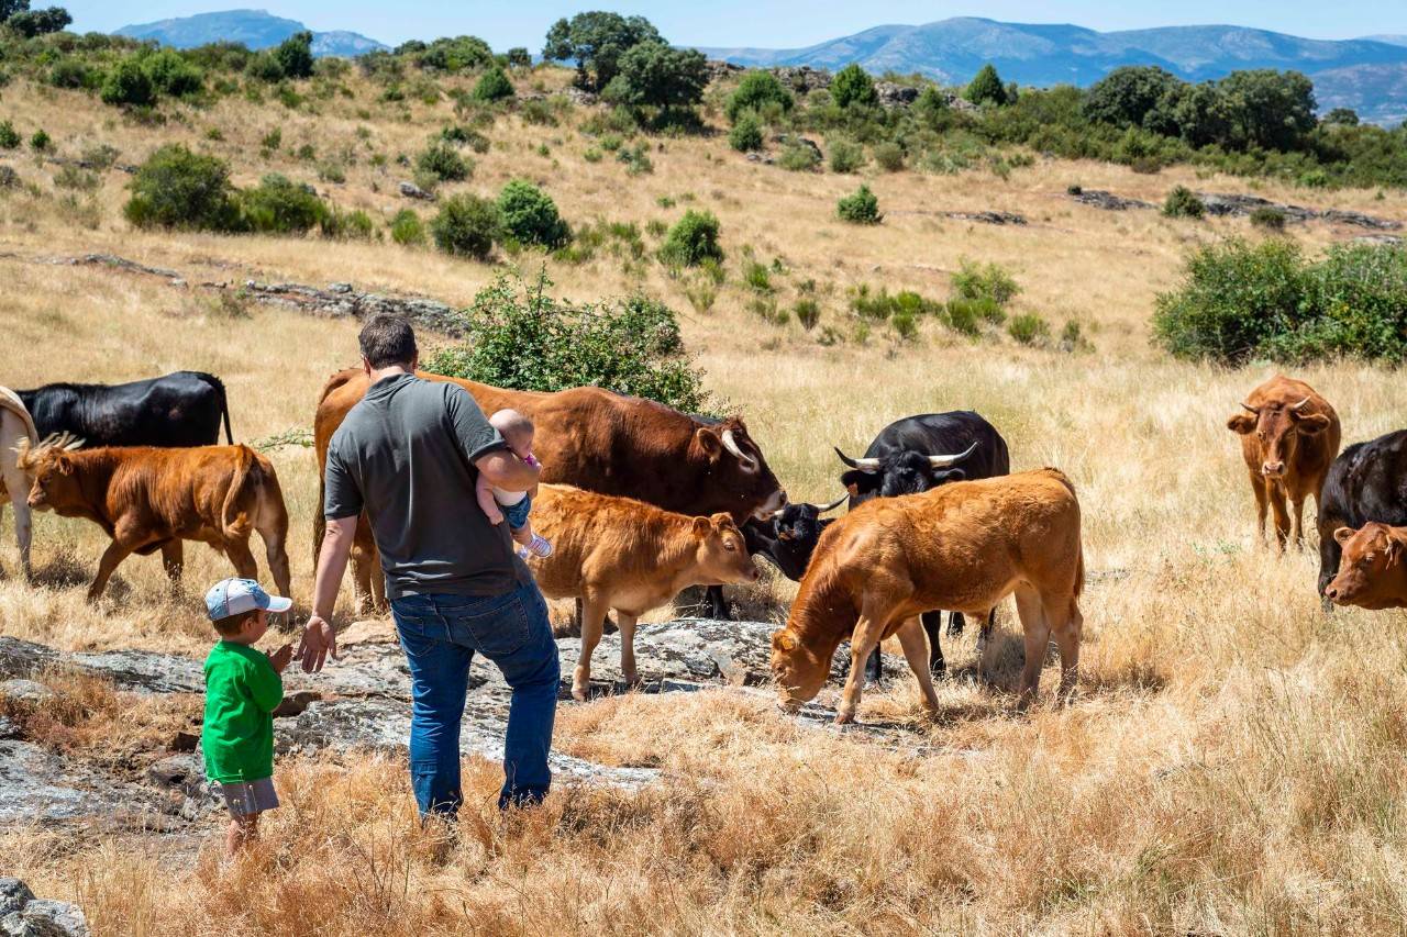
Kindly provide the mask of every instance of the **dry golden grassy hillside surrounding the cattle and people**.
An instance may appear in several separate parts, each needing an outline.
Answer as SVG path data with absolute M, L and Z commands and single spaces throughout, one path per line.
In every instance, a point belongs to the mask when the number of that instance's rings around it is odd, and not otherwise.
M 1245 217 L 1152 208 L 1178 186 L 1396 221 L 1407 221 L 1407 193 L 1182 165 L 1134 172 L 969 139 L 967 159 L 941 167 L 900 160 L 886 170 L 864 148 L 848 172 L 794 172 L 772 138 L 761 152 L 732 149 L 729 86 L 709 91 L 698 132 L 646 132 L 568 94 L 570 69 L 509 75 L 516 100 L 485 104 L 471 96 L 474 70 L 407 68 L 384 79 L 322 62 L 312 79 L 279 84 L 212 75 L 235 90 L 141 108 L 14 77 L 0 120 L 25 142 L 0 151 L 13 173 L 0 173 L 0 332 L 13 349 L 0 384 L 221 376 L 236 440 L 265 449 L 279 473 L 304 604 L 321 505 L 317 463 L 300 440 L 328 374 L 357 359 L 349 297 L 467 307 L 497 277 L 537 272 L 574 301 L 643 294 L 677 312 L 706 388 L 746 418 L 792 499 L 840 494 L 833 446 L 864 450 L 899 416 L 948 409 L 998 426 L 1013 470 L 1065 471 L 1081 501 L 1086 571 L 1076 696 L 1054 698 L 1051 657 L 1040 701 L 1017 706 L 1026 651 L 1003 602 L 985 668 L 975 627 L 943 639 L 950 674 L 937 712 L 895 670 L 865 691 L 861 727 L 827 725 L 834 682 L 803 716 L 788 715 L 770 687 L 754 685 L 767 680 L 767 633 L 796 594 L 768 571 L 733 592 L 760 623 L 671 630 L 671 646 L 704 661 L 706 678 L 681 673 L 651 640 L 639 650 L 647 687 L 602 684 L 591 702 L 563 702 L 553 746 L 577 760 L 575 774 L 557 775 L 542 810 L 498 813 L 501 768 L 474 739 L 460 830 L 446 846 L 414 816 L 393 625 L 353 620 L 345 585 L 336 618 L 346 660 L 322 677 L 291 675 L 290 689 L 321 698 L 276 720 L 287 743 L 276 767 L 284 806 L 256 853 L 225 862 L 225 817 L 182 786 L 191 777 L 173 779 L 172 765 L 191 763 L 198 663 L 214 642 L 200 595 L 229 574 L 228 560 L 189 544 L 183 592 L 173 594 L 158 557 L 134 556 L 87 605 L 104 532 L 38 515 L 38 582 L 28 584 L 15 574 L 7 509 L 0 663 L 20 642 L 55 653 L 37 670 L 0 674 L 53 694 L 34 706 L 0 689 L 0 795 L 14 798 L 0 799 L 0 872 L 77 902 L 94 934 L 156 937 L 1400 927 L 1407 619 L 1321 611 L 1313 523 L 1310 544 L 1285 556 L 1254 535 L 1225 419 L 1278 369 L 1172 359 L 1151 343 L 1150 318 L 1189 250 L 1272 239 Z M 37 149 L 28 141 L 41 128 L 49 144 Z M 369 228 L 136 228 L 124 215 L 129 169 L 170 144 L 224 160 L 245 190 L 280 173 L 298 193 L 364 212 Z M 404 196 L 432 144 L 453 148 L 463 177 L 442 180 L 435 201 Z M 454 196 L 494 198 L 514 179 L 553 198 L 575 231 L 571 250 L 499 245 L 473 260 L 394 236 L 405 211 L 429 222 Z M 881 224 L 837 218 L 837 200 L 861 183 L 878 197 Z M 1097 193 L 1148 207 L 1109 210 Z M 719 221 L 716 267 L 658 257 L 689 210 Z M 1273 238 L 1318 256 L 1365 234 L 1344 218 L 1320 214 Z M 1048 340 L 1021 342 L 1009 321 L 958 332 L 929 314 L 905 335 L 855 305 L 881 290 L 946 300 L 965 263 L 1009 274 L 1020 293 L 1005 315 L 1038 317 Z M 331 298 L 314 305 L 311 288 Z M 810 325 L 799 321 L 803 301 L 816 308 Z M 1059 340 L 1071 322 L 1083 342 Z M 419 339 L 426 353 L 453 342 L 429 329 Z M 1338 407 L 1345 443 L 1401 426 L 1400 370 L 1334 360 L 1293 371 Z M 568 605 L 557 605 L 559 619 Z M 725 643 L 746 651 L 746 667 L 719 651 Z M 145 663 L 146 684 L 165 688 L 135 692 L 141 681 L 104 677 L 94 661 Z M 476 677 L 488 670 L 477 667 Z M 369 673 L 383 682 L 363 680 Z M 469 725 L 497 719 L 504 695 L 476 680 Z M 328 712 L 343 718 L 319 725 Z M 357 730 L 377 744 L 325 744 Z M 590 765 L 602 767 L 599 778 L 582 772 Z M 14 806 L 51 789 L 53 810 Z

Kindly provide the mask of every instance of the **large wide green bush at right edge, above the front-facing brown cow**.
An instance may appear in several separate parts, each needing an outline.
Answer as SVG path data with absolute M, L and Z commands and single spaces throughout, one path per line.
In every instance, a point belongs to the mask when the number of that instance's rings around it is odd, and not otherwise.
M 1154 335 L 1178 357 L 1241 363 L 1407 359 L 1407 250 L 1337 245 L 1316 263 L 1283 238 L 1206 245 L 1161 294 Z

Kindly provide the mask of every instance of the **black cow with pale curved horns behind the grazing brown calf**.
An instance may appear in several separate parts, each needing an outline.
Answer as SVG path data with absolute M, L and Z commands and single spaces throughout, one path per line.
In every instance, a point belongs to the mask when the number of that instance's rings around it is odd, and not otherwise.
M 851 459 L 839 447 L 836 454 L 850 466 L 850 471 L 840 476 L 840 484 L 850 490 L 851 511 L 871 498 L 919 494 L 947 481 L 993 478 L 1012 471 L 1012 456 L 1002 433 L 969 409 L 896 419 L 875 436 L 862 457 Z M 982 627 L 983 636 L 995 620 L 993 609 Z M 938 674 L 947 670 L 938 646 L 941 625 L 941 612 L 924 612 L 929 667 Z M 948 635 L 961 635 L 962 626 L 962 615 L 954 612 L 948 619 Z M 879 649 L 875 649 L 867 670 L 874 680 L 882 677 Z

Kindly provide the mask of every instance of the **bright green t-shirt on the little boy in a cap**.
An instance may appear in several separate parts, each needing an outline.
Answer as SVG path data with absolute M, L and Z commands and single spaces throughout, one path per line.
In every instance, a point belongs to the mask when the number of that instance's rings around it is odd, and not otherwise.
M 219 642 L 205 658 L 205 777 L 219 784 L 273 777 L 273 710 L 283 678 L 269 656 Z

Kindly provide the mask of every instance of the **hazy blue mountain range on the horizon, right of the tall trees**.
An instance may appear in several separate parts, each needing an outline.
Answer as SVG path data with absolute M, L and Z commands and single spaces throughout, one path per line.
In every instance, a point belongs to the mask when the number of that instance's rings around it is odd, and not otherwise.
M 1088 86 L 1120 65 L 1158 65 L 1189 82 L 1238 69 L 1294 69 L 1314 80 L 1324 110 L 1352 107 L 1384 124 L 1407 117 L 1407 35 L 1327 41 L 1230 25 L 1097 32 L 958 17 L 874 27 L 803 49 L 701 51 L 757 68 L 858 62 L 872 73 L 919 73 L 948 84 L 968 82 L 991 62 L 1003 79 L 1037 87 Z

